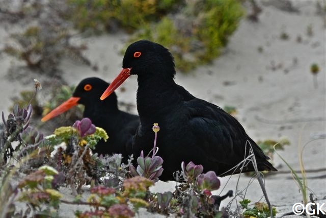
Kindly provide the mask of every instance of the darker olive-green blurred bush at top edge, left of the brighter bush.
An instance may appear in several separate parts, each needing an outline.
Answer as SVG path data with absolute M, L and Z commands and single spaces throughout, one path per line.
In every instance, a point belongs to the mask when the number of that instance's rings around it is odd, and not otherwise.
M 158 20 L 181 4 L 181 0 L 68 0 L 71 19 L 81 31 L 110 31 L 122 26 L 128 32 Z

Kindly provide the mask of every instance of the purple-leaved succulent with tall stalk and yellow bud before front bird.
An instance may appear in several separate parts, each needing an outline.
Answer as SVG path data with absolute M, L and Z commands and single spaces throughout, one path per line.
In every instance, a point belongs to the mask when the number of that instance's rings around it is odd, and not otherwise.
M 143 176 L 152 180 L 153 182 L 157 182 L 158 177 L 163 172 L 163 159 L 159 156 L 155 156 L 155 154 L 158 152 L 158 148 L 156 147 L 157 132 L 159 131 L 158 124 L 153 125 L 153 131 L 155 133 L 155 138 L 152 149 L 152 157 L 149 157 L 148 155 L 144 157 L 144 152 L 142 151 L 141 156 L 137 158 L 137 169 L 135 169 L 133 165 L 130 165 L 129 170 L 132 176 Z

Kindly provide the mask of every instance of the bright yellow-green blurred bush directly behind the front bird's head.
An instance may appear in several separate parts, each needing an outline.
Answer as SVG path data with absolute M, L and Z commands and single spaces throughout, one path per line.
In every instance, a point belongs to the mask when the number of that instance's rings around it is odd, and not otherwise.
M 145 26 L 131 41 L 148 39 L 170 48 L 181 71 L 210 62 L 227 44 L 243 15 L 237 0 L 189 1 L 175 15 Z

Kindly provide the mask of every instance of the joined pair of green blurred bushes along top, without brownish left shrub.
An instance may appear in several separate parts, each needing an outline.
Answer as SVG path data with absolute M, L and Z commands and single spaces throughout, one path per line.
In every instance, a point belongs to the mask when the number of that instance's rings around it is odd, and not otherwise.
M 239 0 L 68 0 L 68 4 L 69 19 L 78 30 L 137 30 L 128 44 L 148 39 L 169 47 L 184 72 L 219 56 L 243 15 Z

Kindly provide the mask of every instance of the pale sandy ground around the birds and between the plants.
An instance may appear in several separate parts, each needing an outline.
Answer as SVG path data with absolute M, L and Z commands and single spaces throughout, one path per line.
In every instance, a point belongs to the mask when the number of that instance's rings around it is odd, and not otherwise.
M 300 13 L 281 10 L 275 7 L 276 4 L 270 4 L 270 1 L 262 3 L 263 12 L 259 22 L 242 19 L 221 57 L 209 65 L 198 67 L 191 74 L 178 73 L 176 82 L 198 98 L 221 107 L 236 107 L 236 117 L 254 140 L 288 138 L 290 146 L 279 153 L 294 169 L 300 169 L 298 145 L 303 147 L 309 141 L 326 135 L 325 23 L 322 16 L 316 15 L 314 1 L 293 2 Z M 309 25 L 312 27 L 312 36 L 307 35 Z M 289 38 L 281 39 L 282 33 L 286 33 Z M 301 42 L 297 41 L 298 36 L 302 38 Z M 3 29 L 0 38 L 1 49 L 9 40 L 8 33 Z M 90 76 L 111 81 L 121 70 L 122 56 L 119 51 L 125 39 L 123 33 L 84 39 L 89 47 L 85 55 L 99 70 L 93 71 L 72 61 L 64 61 L 61 65 L 65 72 L 64 79 L 68 84 L 76 84 Z M 318 88 L 314 87 L 310 73 L 312 63 L 320 67 Z M 17 64 L 21 63 L 4 54 L 0 58 L 0 110 L 5 112 L 11 105 L 10 98 L 20 90 L 33 86 L 32 81 L 31 84 L 21 84 L 16 80 L 8 80 L 9 67 Z M 119 101 L 135 105 L 137 78 L 130 77 L 122 87 L 125 91 L 122 92 L 121 88 L 117 90 Z M 43 89 L 46 88 L 43 86 Z M 135 107 L 132 112 L 137 113 Z M 308 186 L 322 203 L 326 203 L 325 148 L 324 139 L 314 140 L 307 144 L 303 153 Z M 274 163 L 280 172 L 288 171 L 277 155 Z M 323 170 L 310 173 L 320 168 Z M 221 178 L 221 187 L 224 189 L 216 193 L 224 194 L 229 189 L 235 191 L 237 180 L 238 176 Z M 247 187 L 249 180 L 249 177 L 241 176 L 237 190 Z M 174 185 L 174 182 L 158 182 L 152 190 L 173 190 Z M 279 211 L 278 216 L 290 212 L 294 203 L 302 201 L 301 193 L 289 173 L 267 176 L 265 185 L 271 204 Z M 62 191 L 67 192 L 69 200 L 72 198 L 69 190 Z M 258 182 L 254 181 L 247 190 L 246 198 L 256 202 L 261 197 Z M 222 206 L 227 203 L 228 200 L 225 200 Z M 71 208 L 70 205 L 63 205 L 63 216 L 72 216 Z M 76 208 L 83 209 L 82 206 Z M 139 216 L 147 215 L 142 211 Z

